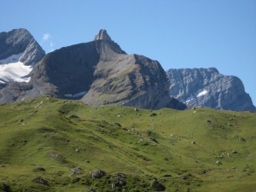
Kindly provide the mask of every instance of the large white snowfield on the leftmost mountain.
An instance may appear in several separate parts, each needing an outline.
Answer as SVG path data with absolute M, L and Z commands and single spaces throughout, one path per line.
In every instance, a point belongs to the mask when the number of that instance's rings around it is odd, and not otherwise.
M 20 62 L 21 55 L 23 53 L 0 60 L 0 83 L 29 82 L 30 78 L 23 77 L 32 72 L 32 66 L 25 66 Z

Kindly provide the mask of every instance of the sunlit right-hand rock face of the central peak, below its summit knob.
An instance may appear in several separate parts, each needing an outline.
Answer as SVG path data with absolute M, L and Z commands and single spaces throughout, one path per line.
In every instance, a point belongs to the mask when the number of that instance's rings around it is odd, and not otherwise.
M 169 82 L 159 62 L 114 51 L 108 41 L 96 44 L 100 61 L 83 102 L 95 107 L 113 103 L 152 109 L 166 106 Z

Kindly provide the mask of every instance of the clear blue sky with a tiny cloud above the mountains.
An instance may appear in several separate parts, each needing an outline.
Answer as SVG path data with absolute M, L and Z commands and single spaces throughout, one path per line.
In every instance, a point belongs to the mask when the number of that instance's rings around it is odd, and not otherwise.
M 48 53 L 100 29 L 127 54 L 162 67 L 216 67 L 240 78 L 256 104 L 255 0 L 0 0 L 0 32 L 26 28 Z

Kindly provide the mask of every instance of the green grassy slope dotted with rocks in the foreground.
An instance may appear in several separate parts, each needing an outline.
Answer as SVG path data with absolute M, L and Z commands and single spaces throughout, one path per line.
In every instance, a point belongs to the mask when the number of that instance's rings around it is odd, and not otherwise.
M 255 128 L 256 113 L 212 108 L 91 108 L 52 97 L 3 103 L 0 191 L 3 183 L 12 191 L 154 191 L 154 179 L 166 191 L 253 191 Z M 78 166 L 81 174 L 70 175 Z M 93 179 L 96 170 L 107 175 Z M 118 173 L 126 185 L 112 188 Z

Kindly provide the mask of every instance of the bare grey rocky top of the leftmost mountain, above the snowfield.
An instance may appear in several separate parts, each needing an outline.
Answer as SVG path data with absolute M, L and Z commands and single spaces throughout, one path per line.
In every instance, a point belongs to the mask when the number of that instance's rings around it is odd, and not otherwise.
M 26 66 L 35 65 L 45 55 L 44 50 L 26 29 L 0 32 L 0 60 L 20 53 L 23 53 L 20 61 Z

